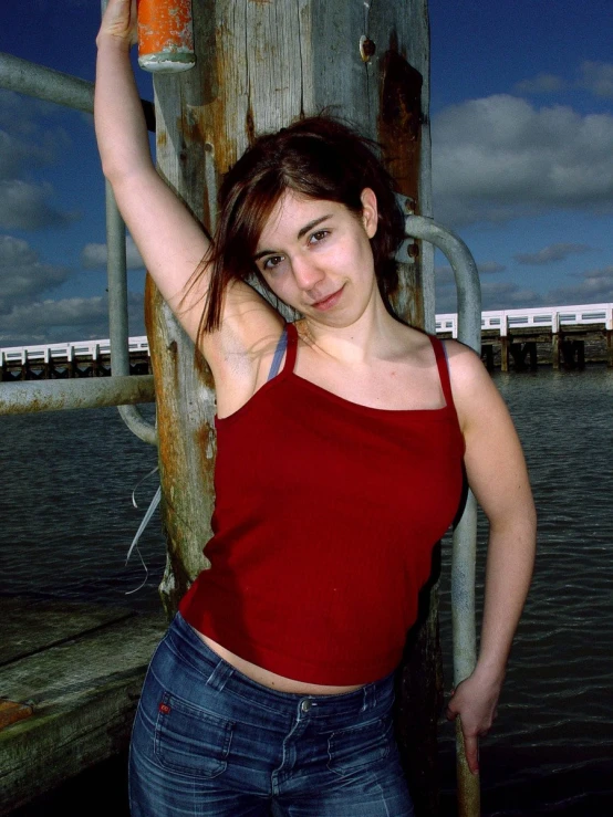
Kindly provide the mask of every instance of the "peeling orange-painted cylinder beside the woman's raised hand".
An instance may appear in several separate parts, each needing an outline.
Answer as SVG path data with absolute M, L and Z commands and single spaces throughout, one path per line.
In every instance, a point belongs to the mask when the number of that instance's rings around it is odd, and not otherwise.
M 141 67 L 174 73 L 195 62 L 191 0 L 138 0 Z

